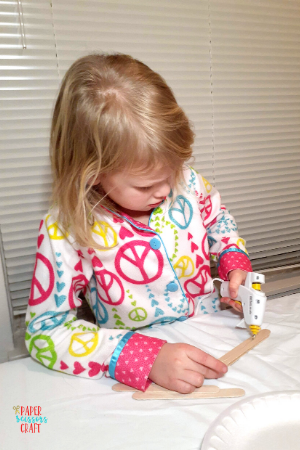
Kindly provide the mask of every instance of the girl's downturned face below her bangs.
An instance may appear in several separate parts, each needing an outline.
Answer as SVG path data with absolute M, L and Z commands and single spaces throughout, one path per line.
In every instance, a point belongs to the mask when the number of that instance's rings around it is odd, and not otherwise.
M 171 191 L 172 175 L 166 167 L 147 175 L 118 172 L 102 175 L 101 185 L 121 211 L 132 215 L 131 212 L 146 213 L 157 207 Z

